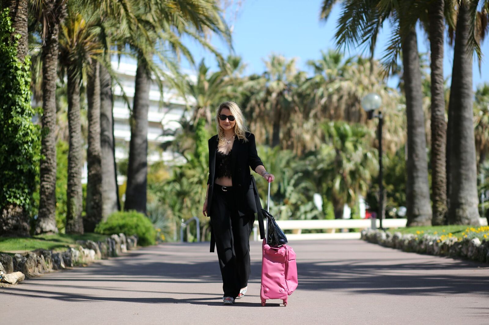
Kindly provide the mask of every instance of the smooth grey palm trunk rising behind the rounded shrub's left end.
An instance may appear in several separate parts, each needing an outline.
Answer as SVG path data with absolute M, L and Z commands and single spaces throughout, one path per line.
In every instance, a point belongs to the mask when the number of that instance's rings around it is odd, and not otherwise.
M 120 210 L 115 165 L 114 119 L 112 116 L 112 79 L 100 65 L 100 144 L 102 149 L 102 220 Z

